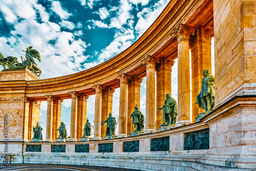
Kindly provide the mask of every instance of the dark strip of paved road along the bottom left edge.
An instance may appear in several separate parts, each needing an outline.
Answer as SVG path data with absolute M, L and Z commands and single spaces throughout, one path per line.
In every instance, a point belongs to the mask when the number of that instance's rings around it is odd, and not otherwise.
M 126 168 L 114 168 L 114 167 L 100 167 L 100 166 L 83 166 L 83 165 L 41 165 L 40 164 L 23 164 L 23 165 L 8 165 L 0 166 L 0 171 L 138 171 L 135 169 L 126 169 Z

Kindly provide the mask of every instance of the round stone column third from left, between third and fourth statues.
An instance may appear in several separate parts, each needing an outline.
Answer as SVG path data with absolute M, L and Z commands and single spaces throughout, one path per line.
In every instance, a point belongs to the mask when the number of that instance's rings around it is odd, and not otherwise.
M 100 130 L 101 130 L 101 104 L 102 104 L 102 90 L 104 86 L 98 84 L 93 86 L 95 89 L 95 114 L 94 114 L 94 137 L 93 140 L 101 140 Z

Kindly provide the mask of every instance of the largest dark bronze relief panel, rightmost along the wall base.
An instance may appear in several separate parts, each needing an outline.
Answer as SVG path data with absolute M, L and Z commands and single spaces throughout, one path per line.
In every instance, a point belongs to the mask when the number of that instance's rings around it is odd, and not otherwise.
M 209 149 L 209 129 L 186 133 L 184 149 Z

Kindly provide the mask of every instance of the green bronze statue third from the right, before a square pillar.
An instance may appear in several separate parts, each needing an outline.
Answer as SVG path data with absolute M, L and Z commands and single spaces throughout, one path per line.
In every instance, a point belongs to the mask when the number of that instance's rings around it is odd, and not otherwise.
M 139 108 L 136 105 L 134 107 L 134 112 L 130 116 L 130 118 L 133 117 L 133 124 L 135 126 L 135 130 L 133 132 L 141 131 L 144 128 L 144 115 L 138 111 L 138 109 Z

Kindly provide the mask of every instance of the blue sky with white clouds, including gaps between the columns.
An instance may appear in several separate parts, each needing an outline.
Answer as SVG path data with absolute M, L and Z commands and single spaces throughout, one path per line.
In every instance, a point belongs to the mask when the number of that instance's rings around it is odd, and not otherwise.
M 168 0 L 1 0 L 0 53 L 24 56 L 33 46 L 40 52 L 41 79 L 64 76 L 92 68 L 131 46 L 162 12 Z M 213 51 L 212 51 L 213 52 Z M 172 73 L 172 97 L 177 100 L 177 62 Z M 140 110 L 145 114 L 145 78 Z M 95 96 L 88 99 L 87 116 L 94 119 Z M 61 121 L 70 132 L 71 100 L 62 103 Z M 46 130 L 46 101 L 40 122 Z M 118 116 L 119 89 L 113 97 Z M 130 115 L 130 114 L 128 114 Z

